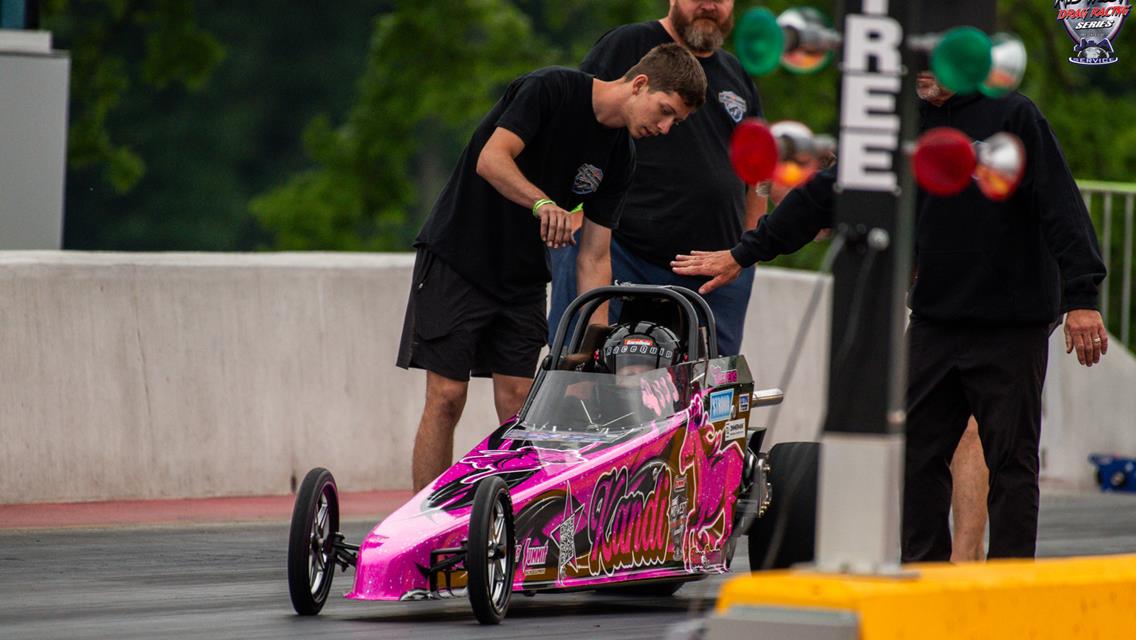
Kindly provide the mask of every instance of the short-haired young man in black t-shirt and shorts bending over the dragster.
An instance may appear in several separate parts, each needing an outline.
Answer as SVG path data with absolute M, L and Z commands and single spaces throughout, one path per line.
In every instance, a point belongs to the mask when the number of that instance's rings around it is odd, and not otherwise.
M 450 465 L 471 374 L 493 376 L 502 422 L 528 393 L 546 331 L 545 246 L 573 242 L 571 211 L 586 205 L 579 286 L 608 284 L 632 139 L 666 134 L 704 97 L 693 56 L 659 47 L 617 81 L 567 68 L 525 75 L 477 126 L 415 241 L 398 359 L 427 372 L 415 491 Z

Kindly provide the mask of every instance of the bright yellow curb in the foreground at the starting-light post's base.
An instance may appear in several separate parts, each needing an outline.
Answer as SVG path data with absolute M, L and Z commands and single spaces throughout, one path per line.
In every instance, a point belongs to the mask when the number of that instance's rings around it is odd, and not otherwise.
M 861 640 L 1092 639 L 1136 629 L 1136 555 L 908 565 L 911 577 L 768 572 L 727 582 L 716 610 L 855 614 Z

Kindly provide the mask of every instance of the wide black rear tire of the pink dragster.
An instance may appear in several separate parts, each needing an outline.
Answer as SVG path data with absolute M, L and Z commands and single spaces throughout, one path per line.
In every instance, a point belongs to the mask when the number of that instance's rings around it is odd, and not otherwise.
M 772 497 L 750 526 L 750 567 L 787 568 L 816 557 L 820 444 L 783 442 L 769 451 Z

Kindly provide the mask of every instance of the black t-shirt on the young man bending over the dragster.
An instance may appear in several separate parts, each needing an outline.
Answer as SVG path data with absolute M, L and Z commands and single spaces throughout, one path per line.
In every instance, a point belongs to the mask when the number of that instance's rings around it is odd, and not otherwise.
M 415 247 L 426 246 L 462 277 L 507 302 L 544 296 L 551 280 L 541 224 L 477 175 L 477 157 L 496 127 L 525 141 L 517 166 L 565 209 L 584 203 L 592 222 L 615 227 L 635 169 L 626 127 L 595 119 L 592 76 L 544 68 L 515 80 L 482 119 L 442 189 Z

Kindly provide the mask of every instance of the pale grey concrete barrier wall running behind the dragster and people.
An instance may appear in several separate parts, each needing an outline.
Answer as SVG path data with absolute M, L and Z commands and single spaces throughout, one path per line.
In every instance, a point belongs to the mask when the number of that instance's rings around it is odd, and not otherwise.
M 0 251 L 0 504 L 282 494 L 312 466 L 345 490 L 407 488 L 425 394 L 421 372 L 393 365 L 411 263 Z M 794 350 L 818 282 L 821 304 Z M 784 384 L 796 358 L 785 404 L 755 415 L 772 441 L 811 439 L 820 424 L 829 288 L 815 274 L 758 272 L 743 343 L 758 385 Z M 1130 404 L 1136 365 L 1121 364 L 1128 388 L 1117 396 Z M 1092 380 L 1121 383 L 1110 371 L 1094 367 Z M 1080 371 L 1058 375 L 1069 393 L 1047 405 L 1051 418 L 1080 419 L 1086 399 L 1106 396 Z M 1130 442 L 1136 410 L 1117 407 L 1109 419 L 1127 427 L 1094 418 L 1101 447 Z M 457 452 L 495 425 L 490 383 L 475 380 Z M 1075 460 L 1058 464 L 1064 443 L 1049 459 L 1072 473 Z

